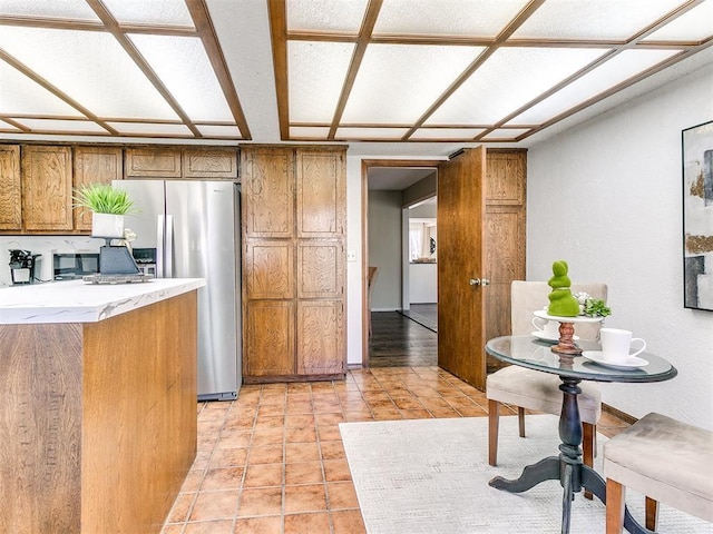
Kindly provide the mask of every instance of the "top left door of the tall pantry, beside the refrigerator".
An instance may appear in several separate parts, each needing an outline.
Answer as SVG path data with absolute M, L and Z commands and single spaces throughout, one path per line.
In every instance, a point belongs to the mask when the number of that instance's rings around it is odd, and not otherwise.
M 243 149 L 243 229 L 246 237 L 293 237 L 292 150 Z

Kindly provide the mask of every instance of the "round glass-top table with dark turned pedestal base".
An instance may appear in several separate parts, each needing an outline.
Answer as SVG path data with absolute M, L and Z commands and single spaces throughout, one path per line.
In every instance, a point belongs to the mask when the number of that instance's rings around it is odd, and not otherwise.
M 561 532 L 569 532 L 572 501 L 583 488 L 590 491 L 606 504 L 604 478 L 582 461 L 582 419 L 577 396 L 582 393 L 582 380 L 648 383 L 668 380 L 676 376 L 676 368 L 664 358 L 651 353 L 638 355 L 634 364 L 613 367 L 599 357 L 600 347 L 595 342 L 580 340 L 582 354 L 565 354 L 554 350 L 551 343 L 535 336 L 502 336 L 490 339 L 486 352 L 508 364 L 527 367 L 541 373 L 558 375 L 563 392 L 559 415 L 559 456 L 549 456 L 524 468 L 519 478 L 509 481 L 500 476 L 489 484 L 498 490 L 521 493 L 540 482 L 559 479 L 563 488 Z M 641 358 L 641 360 L 638 360 Z M 648 532 L 625 511 L 624 527 L 632 534 Z

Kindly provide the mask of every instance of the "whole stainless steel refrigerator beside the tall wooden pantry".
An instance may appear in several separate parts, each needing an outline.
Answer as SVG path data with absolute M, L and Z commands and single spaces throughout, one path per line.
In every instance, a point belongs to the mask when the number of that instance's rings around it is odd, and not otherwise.
M 157 277 L 205 278 L 198 290 L 198 399 L 233 399 L 242 383 L 240 191 L 229 181 L 116 180 L 137 215 L 135 249 L 155 249 Z M 145 258 L 144 258 L 145 260 Z

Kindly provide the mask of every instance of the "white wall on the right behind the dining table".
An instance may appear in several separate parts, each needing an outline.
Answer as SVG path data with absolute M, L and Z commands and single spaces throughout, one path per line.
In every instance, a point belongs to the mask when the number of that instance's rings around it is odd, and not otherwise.
M 713 312 L 683 307 L 681 130 L 713 120 L 713 66 L 528 151 L 527 277 L 566 259 L 604 281 L 606 325 L 646 339 L 678 369 L 658 384 L 606 384 L 603 400 L 713 428 Z

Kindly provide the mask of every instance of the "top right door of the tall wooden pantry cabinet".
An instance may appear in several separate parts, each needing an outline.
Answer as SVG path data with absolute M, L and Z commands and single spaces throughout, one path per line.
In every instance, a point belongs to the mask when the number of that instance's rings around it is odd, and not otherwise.
M 346 216 L 344 154 L 296 151 L 296 237 L 340 237 Z

